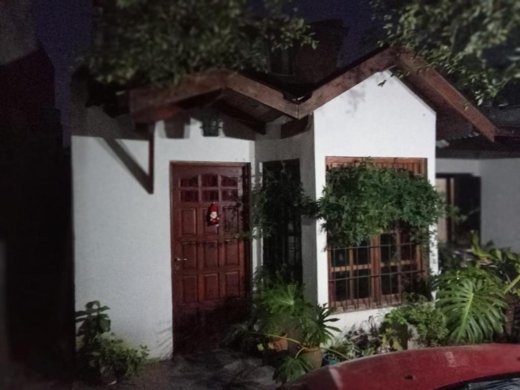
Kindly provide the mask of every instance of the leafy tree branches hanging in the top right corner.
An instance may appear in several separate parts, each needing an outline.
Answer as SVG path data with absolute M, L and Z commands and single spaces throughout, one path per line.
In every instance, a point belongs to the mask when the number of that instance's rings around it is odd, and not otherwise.
M 516 0 L 374 0 L 382 45 L 415 51 L 480 104 L 520 80 Z

